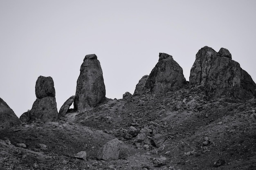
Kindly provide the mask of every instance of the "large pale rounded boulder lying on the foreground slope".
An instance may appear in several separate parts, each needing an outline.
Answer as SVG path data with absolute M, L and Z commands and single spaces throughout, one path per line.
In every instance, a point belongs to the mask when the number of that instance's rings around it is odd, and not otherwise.
M 118 160 L 120 153 L 120 145 L 121 142 L 115 138 L 111 141 L 108 141 L 98 152 L 97 159 L 110 161 L 110 160 Z

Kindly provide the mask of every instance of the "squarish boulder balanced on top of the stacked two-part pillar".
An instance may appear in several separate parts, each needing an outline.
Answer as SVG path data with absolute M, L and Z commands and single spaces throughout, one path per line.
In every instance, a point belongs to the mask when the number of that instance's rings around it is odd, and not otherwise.
M 39 76 L 36 80 L 36 97 L 41 99 L 47 96 L 55 97 L 53 79 L 52 77 Z

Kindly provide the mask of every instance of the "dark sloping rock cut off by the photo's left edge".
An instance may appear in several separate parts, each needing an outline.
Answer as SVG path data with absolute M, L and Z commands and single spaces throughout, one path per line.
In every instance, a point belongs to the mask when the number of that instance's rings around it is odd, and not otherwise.
M 13 110 L 0 98 L 0 127 L 11 127 L 20 124 L 20 119 Z

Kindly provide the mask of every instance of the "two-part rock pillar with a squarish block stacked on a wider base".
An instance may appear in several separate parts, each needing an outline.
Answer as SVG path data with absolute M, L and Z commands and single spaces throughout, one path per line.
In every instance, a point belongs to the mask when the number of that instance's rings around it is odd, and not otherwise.
M 36 81 L 36 101 L 29 112 L 31 120 L 56 121 L 58 110 L 52 77 L 38 77 Z

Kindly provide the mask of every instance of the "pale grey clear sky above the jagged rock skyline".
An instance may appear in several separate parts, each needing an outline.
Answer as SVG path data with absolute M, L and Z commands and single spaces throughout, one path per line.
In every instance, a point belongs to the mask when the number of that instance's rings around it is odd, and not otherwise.
M 159 53 L 189 80 L 204 46 L 228 49 L 255 81 L 255 9 L 256 0 L 0 0 L 0 97 L 20 117 L 36 100 L 36 79 L 51 76 L 59 110 L 92 53 L 112 99 L 133 94 Z

